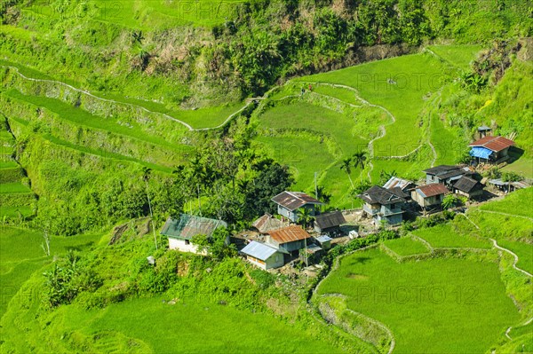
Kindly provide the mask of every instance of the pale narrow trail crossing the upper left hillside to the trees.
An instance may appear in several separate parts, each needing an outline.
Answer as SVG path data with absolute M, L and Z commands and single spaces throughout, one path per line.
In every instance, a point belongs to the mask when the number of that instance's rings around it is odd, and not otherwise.
M 78 89 L 68 83 L 63 83 L 63 82 L 60 82 L 60 81 L 57 81 L 57 80 L 47 80 L 47 79 L 36 79 L 36 78 L 33 78 L 33 77 L 28 77 L 22 73 L 20 73 L 20 70 L 18 67 L 13 67 L 13 66 L 10 66 L 10 65 L 0 65 L 0 67 L 9 67 L 11 69 L 13 69 L 18 75 L 20 75 L 20 77 L 22 77 L 23 79 L 25 80 L 28 80 L 28 81 L 32 81 L 32 82 L 36 82 L 36 83 L 53 83 L 53 84 L 60 84 L 60 85 L 63 85 L 65 87 L 68 87 L 70 90 L 75 90 L 76 92 L 80 92 L 80 93 L 83 93 L 84 95 L 87 95 L 87 96 L 90 96 L 91 98 L 96 98 L 96 99 L 99 99 L 101 101 L 104 101 L 104 102 L 110 102 L 110 103 L 114 103 L 115 105 L 123 105 L 123 106 L 131 106 L 133 108 L 137 108 L 137 109 L 140 109 L 144 112 L 147 112 L 149 114 L 161 114 L 163 117 L 167 118 L 167 119 L 170 119 L 171 121 L 174 121 L 174 122 L 179 122 L 180 124 L 184 125 L 187 130 L 190 130 L 190 131 L 203 131 L 203 130 L 216 130 L 216 129 L 219 129 L 221 127 L 223 127 L 224 125 L 227 124 L 227 122 L 229 122 L 231 119 L 233 119 L 235 117 L 236 114 L 240 114 L 241 112 L 243 112 L 244 109 L 246 109 L 248 106 L 250 106 L 251 104 L 253 104 L 253 102 L 256 100 L 256 99 L 264 99 L 264 98 L 251 98 L 249 100 L 247 100 L 246 104 L 240 108 L 239 110 L 237 110 L 235 113 L 233 114 L 230 114 L 227 119 L 220 123 L 219 125 L 217 125 L 216 127 L 210 127 L 210 128 L 193 128 L 191 125 L 189 125 L 187 122 L 183 122 L 183 121 L 180 121 L 179 119 L 177 118 L 174 118 L 172 117 L 171 115 L 169 114 L 164 114 L 162 112 L 156 112 L 156 111 L 151 111 L 149 109 L 147 109 L 146 107 L 144 106 L 139 106 L 139 105 L 134 105 L 132 103 L 128 103 L 128 102 L 122 102 L 122 101 L 117 101 L 115 99 L 111 99 L 111 98 L 101 98 L 99 96 L 96 96 L 94 94 L 92 94 L 91 92 L 87 91 L 87 90 L 82 90 L 82 89 Z

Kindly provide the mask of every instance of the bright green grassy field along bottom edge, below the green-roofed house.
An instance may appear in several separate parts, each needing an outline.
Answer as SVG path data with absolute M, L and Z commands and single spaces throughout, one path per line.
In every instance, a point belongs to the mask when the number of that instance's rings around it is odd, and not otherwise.
M 298 329 L 267 314 L 195 301 L 169 305 L 162 300 L 129 300 L 99 311 L 68 306 L 60 311 L 64 317 L 61 330 L 88 336 L 122 334 L 145 343 L 154 353 L 342 352 L 314 338 L 312 330 Z

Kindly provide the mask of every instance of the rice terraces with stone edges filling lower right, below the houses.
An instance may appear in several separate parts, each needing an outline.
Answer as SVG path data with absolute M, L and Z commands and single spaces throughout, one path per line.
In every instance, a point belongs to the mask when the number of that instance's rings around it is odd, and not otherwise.
M 383 353 L 533 350 L 531 193 L 341 256 L 314 302 Z

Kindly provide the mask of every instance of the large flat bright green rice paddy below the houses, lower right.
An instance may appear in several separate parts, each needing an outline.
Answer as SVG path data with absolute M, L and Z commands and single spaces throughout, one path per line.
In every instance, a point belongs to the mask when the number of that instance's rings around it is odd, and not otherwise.
M 465 259 L 398 264 L 371 249 L 341 259 L 319 293 L 388 326 L 395 353 L 484 353 L 520 318 L 497 264 Z

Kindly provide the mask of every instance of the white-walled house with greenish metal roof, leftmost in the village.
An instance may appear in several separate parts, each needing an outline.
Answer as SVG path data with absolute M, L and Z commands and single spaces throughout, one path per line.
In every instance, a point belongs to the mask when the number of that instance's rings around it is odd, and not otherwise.
M 161 234 L 169 239 L 169 249 L 205 255 L 205 251 L 199 251 L 191 243 L 191 240 L 197 235 L 211 237 L 213 232 L 219 227 L 226 228 L 226 222 L 202 216 L 182 214 L 179 219 L 169 217 L 163 225 Z M 229 244 L 229 237 L 226 242 Z

